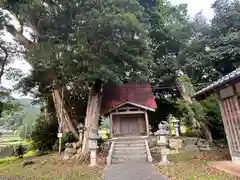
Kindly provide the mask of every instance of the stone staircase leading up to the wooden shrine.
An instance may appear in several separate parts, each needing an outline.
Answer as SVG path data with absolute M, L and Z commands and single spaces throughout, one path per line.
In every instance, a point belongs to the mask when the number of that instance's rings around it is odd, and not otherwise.
M 149 162 L 148 149 L 147 140 L 141 137 L 116 139 L 112 142 L 109 151 L 109 158 L 111 159 L 109 163 L 119 164 L 126 161 Z

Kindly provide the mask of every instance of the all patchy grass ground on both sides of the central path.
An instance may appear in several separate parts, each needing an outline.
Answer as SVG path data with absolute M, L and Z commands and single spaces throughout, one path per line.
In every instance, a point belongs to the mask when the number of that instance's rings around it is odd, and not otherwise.
M 100 180 L 103 167 L 89 168 L 86 165 L 64 163 L 58 154 L 49 154 L 40 157 L 28 157 L 35 163 L 26 167 L 22 160 L 0 163 L 0 177 L 15 177 L 14 180 Z M 25 157 L 25 159 L 28 159 Z M 158 156 L 153 156 L 159 162 Z M 169 166 L 159 166 L 160 174 L 170 180 L 237 180 L 218 170 L 210 169 L 209 161 L 226 160 L 228 153 L 225 150 L 215 150 L 205 153 L 182 152 L 170 155 L 172 162 Z M 157 164 L 157 163 L 156 163 Z M 17 178 L 16 178 L 17 177 Z M 1 179 L 1 178 L 0 178 Z M 12 178 L 13 179 L 13 178 Z

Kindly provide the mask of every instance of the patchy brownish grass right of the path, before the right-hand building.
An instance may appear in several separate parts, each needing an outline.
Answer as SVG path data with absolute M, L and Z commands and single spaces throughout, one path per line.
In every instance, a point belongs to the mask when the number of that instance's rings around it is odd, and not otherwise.
M 210 169 L 209 161 L 226 160 L 228 154 L 225 150 L 215 150 L 205 153 L 183 152 L 178 155 L 170 155 L 173 162 L 170 166 L 160 166 L 159 171 L 170 180 L 239 180 L 221 171 Z

